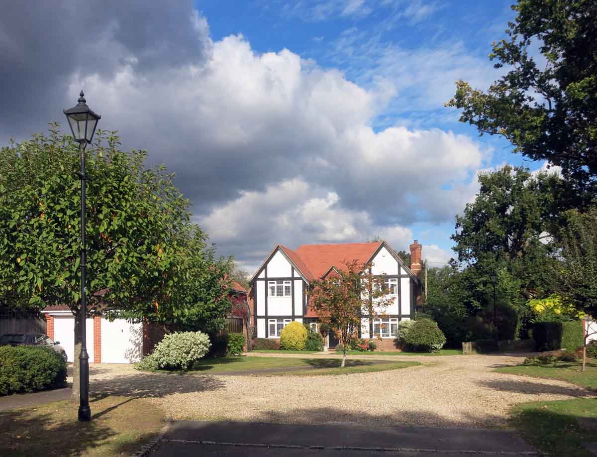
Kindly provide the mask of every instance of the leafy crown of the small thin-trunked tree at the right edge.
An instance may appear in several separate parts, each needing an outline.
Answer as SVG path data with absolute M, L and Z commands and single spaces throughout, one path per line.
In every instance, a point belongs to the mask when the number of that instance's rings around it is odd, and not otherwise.
M 561 240 L 562 289 L 578 310 L 597 315 L 597 208 L 567 216 Z

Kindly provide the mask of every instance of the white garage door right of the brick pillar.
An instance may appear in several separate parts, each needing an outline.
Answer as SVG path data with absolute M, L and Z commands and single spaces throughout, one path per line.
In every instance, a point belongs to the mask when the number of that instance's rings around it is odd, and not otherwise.
M 102 363 L 132 363 L 141 360 L 143 326 L 124 319 L 101 319 Z

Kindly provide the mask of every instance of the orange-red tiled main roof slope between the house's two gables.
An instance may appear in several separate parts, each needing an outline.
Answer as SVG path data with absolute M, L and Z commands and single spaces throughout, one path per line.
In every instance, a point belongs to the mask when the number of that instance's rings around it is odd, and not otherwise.
M 303 246 L 298 247 L 296 254 L 309 269 L 313 278 L 321 278 L 331 266 L 343 269 L 346 262 L 352 262 L 353 260 L 366 263 L 371 259 L 380 244 L 381 241 L 374 243 L 303 244 Z M 297 266 L 300 268 L 298 263 Z

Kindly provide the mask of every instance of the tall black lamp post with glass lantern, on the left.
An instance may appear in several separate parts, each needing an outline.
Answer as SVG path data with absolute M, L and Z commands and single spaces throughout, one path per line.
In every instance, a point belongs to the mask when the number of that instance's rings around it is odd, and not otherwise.
M 73 138 L 79 143 L 79 152 L 81 153 L 81 170 L 79 179 L 81 179 L 81 354 L 79 355 L 79 421 L 91 420 L 91 409 L 89 407 L 89 354 L 87 354 L 87 334 L 85 327 L 87 324 L 87 297 L 85 293 L 87 247 L 85 246 L 85 185 L 87 174 L 85 174 L 85 148 L 93 139 L 96 132 L 97 121 L 101 116 L 89 109 L 85 103 L 83 91 L 79 94 L 79 100 L 76 106 L 70 109 L 64 109 L 63 112 L 69 121 L 70 131 Z

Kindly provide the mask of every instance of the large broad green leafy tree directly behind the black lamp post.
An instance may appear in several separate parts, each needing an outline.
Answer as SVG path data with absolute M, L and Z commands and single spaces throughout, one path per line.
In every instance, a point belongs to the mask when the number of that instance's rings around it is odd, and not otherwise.
M 107 143 L 107 144 L 104 144 Z M 98 131 L 87 152 L 88 316 L 142 317 L 219 326 L 226 262 L 190 223 L 189 202 L 144 151 L 122 152 Z M 0 301 L 16 308 L 69 306 L 75 316 L 75 379 L 81 352 L 81 206 L 78 145 L 52 124 L 0 149 Z M 87 316 L 87 317 L 88 317 Z

